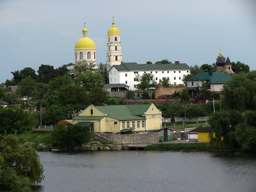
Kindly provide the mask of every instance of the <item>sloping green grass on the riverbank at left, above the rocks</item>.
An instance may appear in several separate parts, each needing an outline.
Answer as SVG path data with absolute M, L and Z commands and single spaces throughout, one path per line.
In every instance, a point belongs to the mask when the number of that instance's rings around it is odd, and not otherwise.
M 28 131 L 17 135 L 17 137 L 22 143 L 35 143 L 36 146 L 39 143 L 44 143 L 45 145 L 51 144 L 51 133 L 32 133 L 32 131 Z

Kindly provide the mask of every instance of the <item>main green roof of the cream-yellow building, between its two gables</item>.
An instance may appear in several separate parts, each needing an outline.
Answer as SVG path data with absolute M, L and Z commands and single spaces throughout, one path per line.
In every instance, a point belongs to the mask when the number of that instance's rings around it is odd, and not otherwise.
M 108 105 L 94 106 L 99 111 L 119 120 L 129 119 L 145 119 L 142 115 L 150 108 L 151 104 L 147 105 Z

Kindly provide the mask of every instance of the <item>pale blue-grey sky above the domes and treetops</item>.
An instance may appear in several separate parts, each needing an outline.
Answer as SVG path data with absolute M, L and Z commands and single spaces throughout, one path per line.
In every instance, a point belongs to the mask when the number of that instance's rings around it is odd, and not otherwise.
M 97 63 L 106 63 L 113 16 L 123 62 L 201 66 L 216 62 L 221 49 L 256 70 L 255 0 L 1 0 L 0 83 L 26 67 L 74 63 L 84 22 Z

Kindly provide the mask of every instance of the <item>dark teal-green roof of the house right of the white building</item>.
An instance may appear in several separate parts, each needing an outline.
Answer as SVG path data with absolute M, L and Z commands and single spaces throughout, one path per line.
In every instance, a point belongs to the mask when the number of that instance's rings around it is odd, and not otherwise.
M 189 78 L 187 81 L 206 81 L 206 84 L 224 84 L 232 79 L 226 72 L 200 72 Z

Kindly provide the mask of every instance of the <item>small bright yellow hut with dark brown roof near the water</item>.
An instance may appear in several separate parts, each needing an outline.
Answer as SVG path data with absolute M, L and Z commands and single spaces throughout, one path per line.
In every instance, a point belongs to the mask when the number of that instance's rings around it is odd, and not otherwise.
M 215 132 L 212 127 L 197 127 L 196 129 L 189 131 L 189 133 L 191 132 L 198 133 L 198 142 L 210 141 L 210 137 L 215 137 Z

